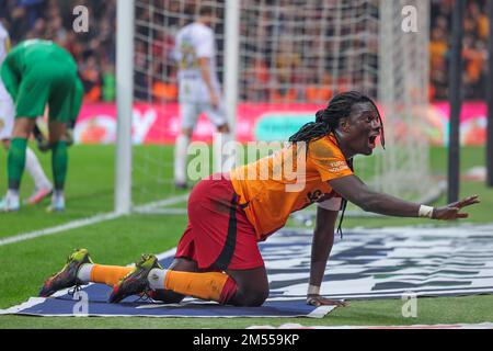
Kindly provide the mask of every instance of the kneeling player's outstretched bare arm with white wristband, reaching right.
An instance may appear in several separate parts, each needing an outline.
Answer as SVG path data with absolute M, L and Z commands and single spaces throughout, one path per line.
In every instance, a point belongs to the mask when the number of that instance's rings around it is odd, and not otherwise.
M 474 195 L 443 207 L 427 208 L 421 204 L 372 191 L 356 176 L 334 179 L 329 181 L 329 184 L 341 196 L 364 211 L 394 217 L 421 216 L 444 220 L 467 218 L 468 214 L 461 213 L 460 210 L 480 202 L 478 195 Z

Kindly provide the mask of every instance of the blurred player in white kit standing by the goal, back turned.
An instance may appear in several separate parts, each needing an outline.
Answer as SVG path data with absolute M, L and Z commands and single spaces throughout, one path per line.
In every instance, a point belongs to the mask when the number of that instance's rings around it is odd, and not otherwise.
M 210 29 L 213 20 L 214 9 L 203 5 L 196 21 L 176 34 L 182 129 L 175 141 L 174 182 L 179 189 L 186 188 L 186 150 L 198 116 L 205 112 L 219 133 L 229 133 L 216 72 L 216 39 Z M 220 157 L 215 161 L 220 165 Z

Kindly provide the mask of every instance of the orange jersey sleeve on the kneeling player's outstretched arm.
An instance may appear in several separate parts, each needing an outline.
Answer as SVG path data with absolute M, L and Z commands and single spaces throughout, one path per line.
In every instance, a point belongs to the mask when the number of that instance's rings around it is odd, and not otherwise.
M 309 144 L 308 159 L 322 181 L 353 174 L 341 149 L 329 137 Z

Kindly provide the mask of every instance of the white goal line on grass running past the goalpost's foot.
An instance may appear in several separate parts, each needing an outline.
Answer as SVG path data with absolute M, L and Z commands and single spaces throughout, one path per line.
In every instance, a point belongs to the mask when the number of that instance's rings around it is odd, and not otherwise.
M 157 204 L 159 204 L 159 205 L 173 205 L 175 203 L 183 202 L 184 200 L 187 199 L 187 196 L 188 195 L 174 196 L 174 197 L 165 199 L 165 200 L 157 202 L 157 203 L 152 203 L 151 205 L 153 205 L 153 206 L 156 206 Z M 146 206 L 149 206 L 149 205 L 142 205 L 142 206 L 139 206 L 137 208 L 142 208 L 142 207 L 146 207 Z M 60 226 L 56 226 L 56 227 L 51 227 L 51 228 L 28 231 L 28 233 L 24 233 L 24 234 L 20 234 L 20 235 L 13 236 L 13 237 L 7 237 L 4 239 L 0 239 L 0 247 L 4 246 L 4 245 L 9 245 L 9 244 L 25 241 L 25 240 L 30 240 L 30 239 L 34 239 L 34 238 L 39 238 L 39 237 L 57 234 L 57 233 L 60 233 L 60 231 L 66 231 L 66 230 L 70 230 L 70 229 L 81 228 L 81 227 L 90 226 L 90 225 L 93 225 L 93 224 L 96 224 L 96 223 L 101 223 L 101 222 L 112 220 L 112 219 L 115 219 L 115 218 L 121 217 L 121 216 L 123 216 L 123 214 L 111 212 L 111 213 L 95 215 L 95 216 L 92 216 L 92 217 L 89 217 L 89 218 L 72 220 L 72 222 L 69 222 L 67 224 L 62 224 Z

